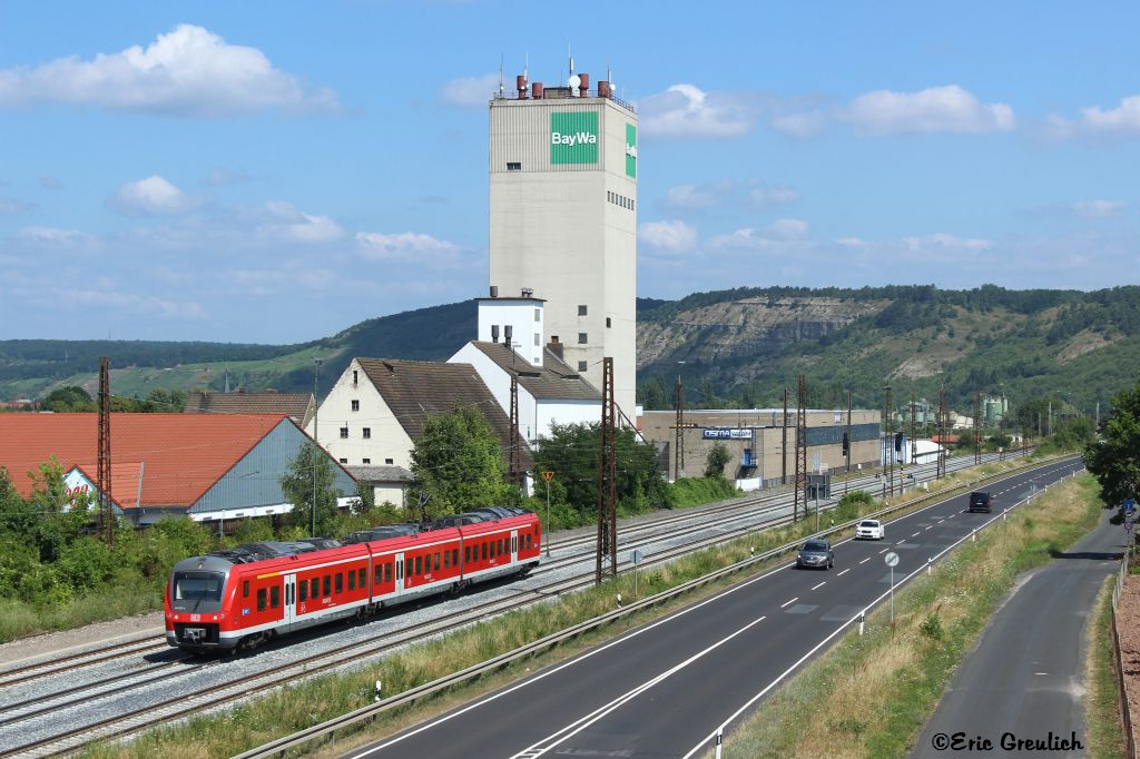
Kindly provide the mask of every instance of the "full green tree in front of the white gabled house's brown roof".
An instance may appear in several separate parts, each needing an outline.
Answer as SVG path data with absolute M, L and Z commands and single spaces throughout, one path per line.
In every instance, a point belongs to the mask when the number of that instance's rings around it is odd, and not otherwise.
M 426 498 L 434 516 L 521 498 L 506 481 L 498 436 L 473 406 L 427 417 L 412 449 L 412 474 L 413 499 Z

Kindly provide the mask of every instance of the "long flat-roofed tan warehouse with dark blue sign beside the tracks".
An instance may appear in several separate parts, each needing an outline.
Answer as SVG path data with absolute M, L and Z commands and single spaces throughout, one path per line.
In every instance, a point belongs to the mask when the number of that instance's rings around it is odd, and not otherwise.
M 807 423 L 807 468 L 813 473 L 844 471 L 844 435 L 850 447 L 850 468 L 879 466 L 881 413 L 809 409 Z M 708 454 L 724 444 L 731 455 L 724 476 L 742 490 L 756 490 L 791 482 L 796 476 L 796 410 L 700 409 L 686 410 L 679 426 L 676 411 L 644 411 L 642 434 L 658 444 L 668 458 L 669 479 L 702 476 Z M 663 464 L 663 460 L 662 460 Z

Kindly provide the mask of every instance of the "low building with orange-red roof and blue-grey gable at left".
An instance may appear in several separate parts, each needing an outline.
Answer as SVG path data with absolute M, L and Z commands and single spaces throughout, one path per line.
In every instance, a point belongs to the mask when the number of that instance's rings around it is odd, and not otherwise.
M 283 414 L 112 414 L 112 504 L 137 525 L 171 514 L 198 522 L 283 514 L 293 504 L 280 478 L 310 440 Z M 68 495 L 95 493 L 98 415 L 0 414 L 0 468 L 21 495 L 52 458 Z M 347 506 L 356 480 L 331 463 Z

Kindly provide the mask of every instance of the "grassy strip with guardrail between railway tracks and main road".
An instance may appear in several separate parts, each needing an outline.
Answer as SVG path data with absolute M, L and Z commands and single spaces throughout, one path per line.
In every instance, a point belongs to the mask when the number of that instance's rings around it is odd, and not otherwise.
M 1013 463 L 986 465 L 987 474 L 1012 468 Z M 977 473 L 955 473 L 951 478 L 934 483 L 931 490 L 960 487 Z M 905 497 L 896 497 L 902 500 Z M 850 504 L 833 514 L 837 522 L 880 508 L 881 504 Z M 915 506 L 918 508 L 920 506 Z M 642 596 L 676 587 L 693 578 L 727 566 L 751 555 L 763 553 L 809 534 L 814 521 L 801 521 L 796 525 L 769 530 L 756 536 L 734 540 L 724 546 L 702 550 L 667 565 L 646 569 L 638 579 Z M 751 570 L 759 572 L 781 560 L 769 560 Z M 739 579 L 739 578 L 735 578 Z M 484 676 L 479 680 L 459 686 L 438 697 L 404 710 L 389 712 L 356 735 L 342 736 L 349 743 L 375 740 L 391 734 L 407 724 L 424 719 L 451 705 L 475 697 L 494 688 L 524 676 L 528 671 L 569 658 L 598 642 L 614 637 L 630 627 L 661 617 L 669 611 L 699 597 L 711 595 L 734 580 L 722 580 L 705 586 L 682 598 L 674 599 L 654 610 L 625 618 L 609 628 L 584 635 L 571 644 L 536 656 L 526 663 L 516 663 L 498 675 Z M 181 757 L 233 756 L 263 744 L 275 737 L 287 735 L 310 725 L 342 715 L 373 700 L 373 684 L 381 679 L 384 695 L 396 695 L 417 685 L 429 683 L 465 667 L 486 661 L 524 645 L 530 640 L 565 629 L 577 622 L 591 619 L 613 609 L 614 595 L 633 598 L 633 578 L 628 574 L 606 582 L 601 588 L 563 596 L 548 604 L 511 612 L 490 621 L 427 640 L 396 652 L 382 661 L 368 664 L 347 675 L 317 677 L 288 686 L 280 692 L 238 705 L 220 715 L 194 718 L 173 727 L 152 731 L 129 745 L 107 745 L 90 749 L 85 756 L 93 757 L 153 757 L 171 753 Z M 187 746 L 194 746 L 188 750 Z M 337 744 L 345 750 L 347 743 Z

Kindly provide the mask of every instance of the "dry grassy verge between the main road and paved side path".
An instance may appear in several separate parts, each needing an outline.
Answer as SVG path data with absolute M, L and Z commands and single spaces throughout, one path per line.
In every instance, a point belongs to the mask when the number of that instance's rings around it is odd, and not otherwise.
M 885 609 L 873 612 L 864 636 L 846 634 L 726 736 L 724 756 L 906 756 L 1017 576 L 1073 545 L 1100 513 L 1099 488 L 1083 476 L 964 542 L 895 594 L 894 631 Z

